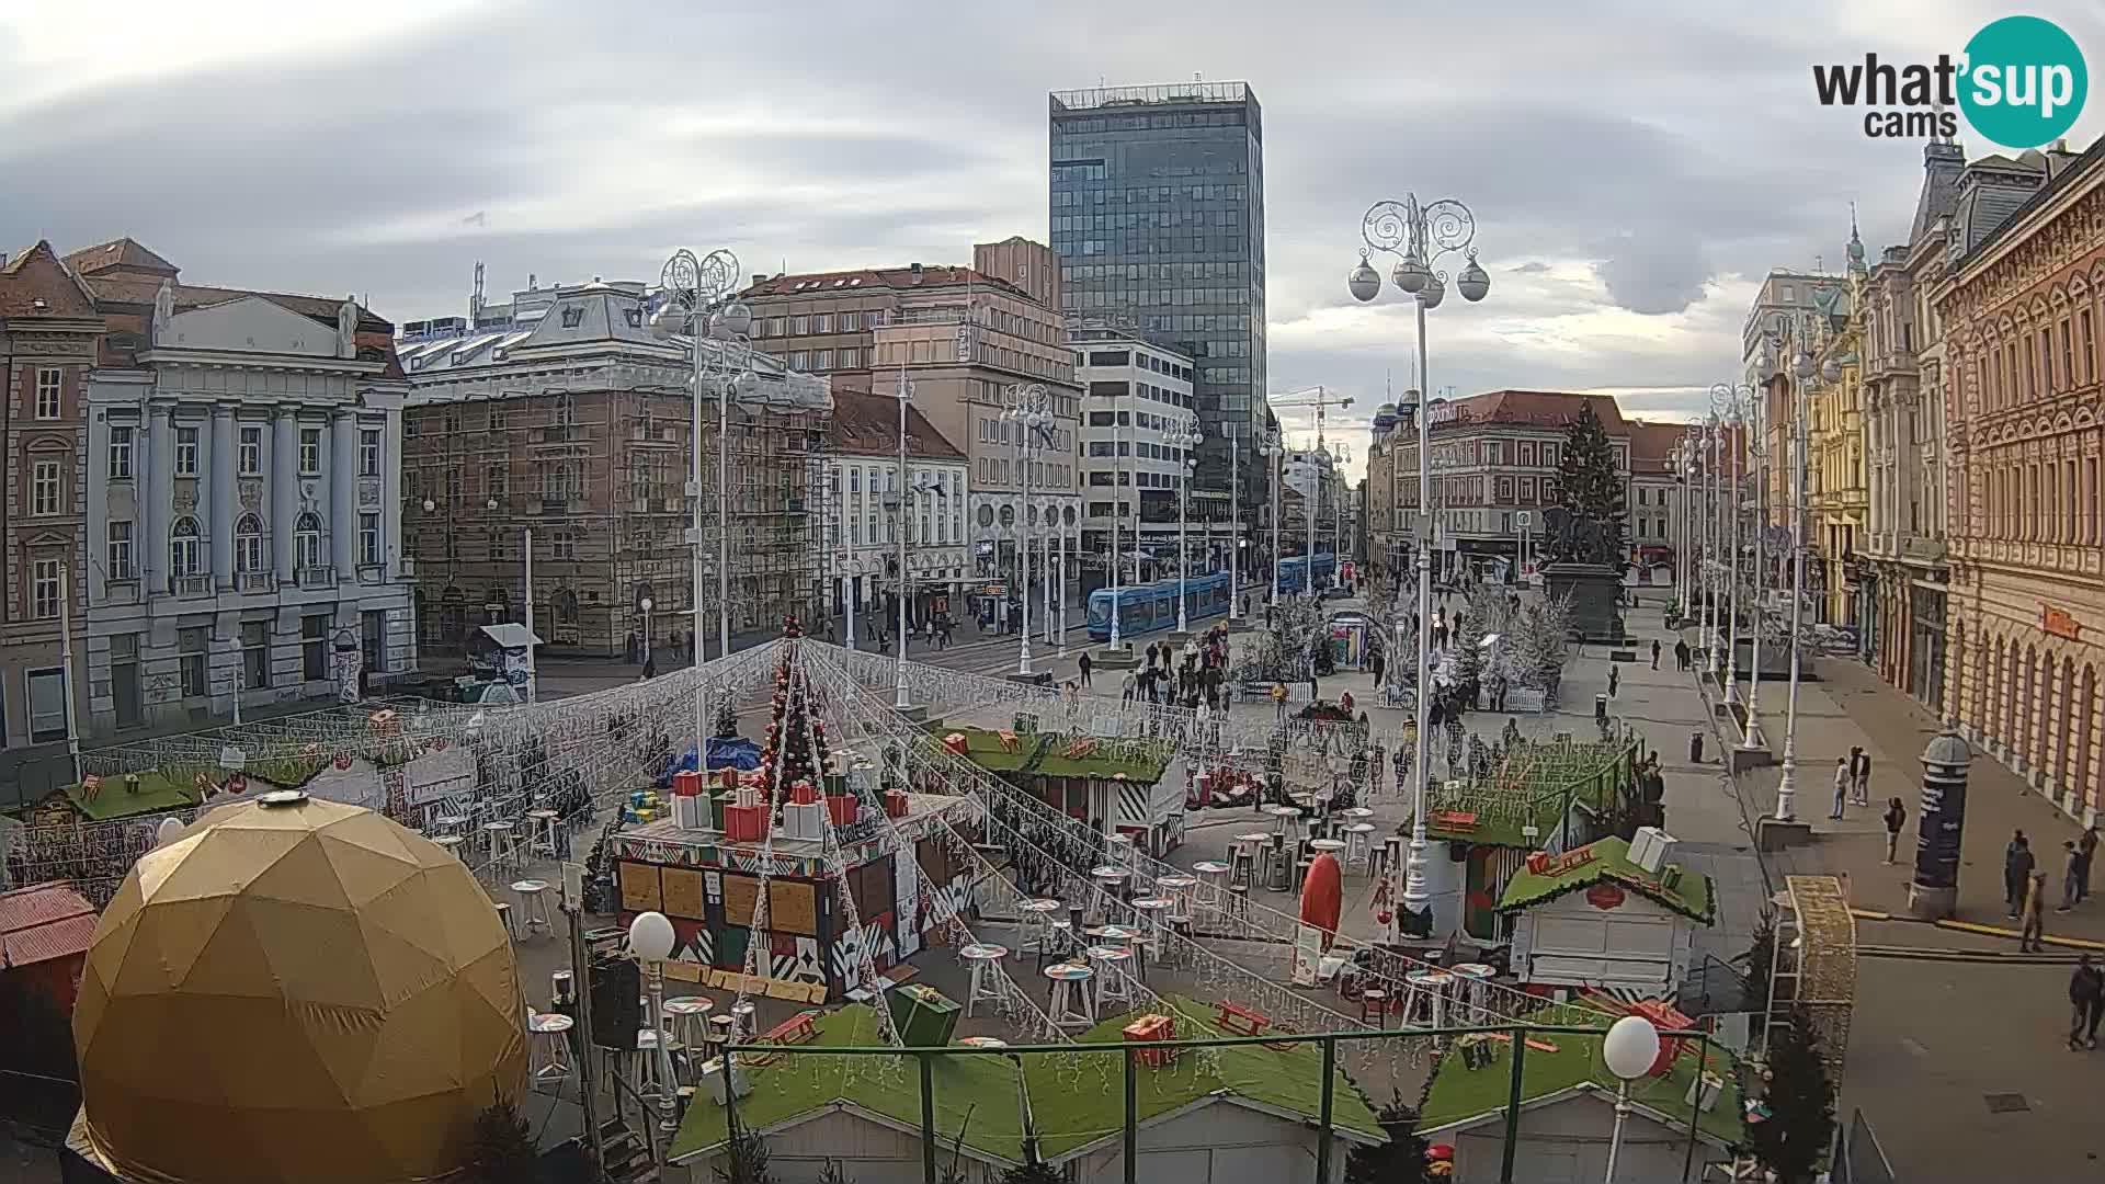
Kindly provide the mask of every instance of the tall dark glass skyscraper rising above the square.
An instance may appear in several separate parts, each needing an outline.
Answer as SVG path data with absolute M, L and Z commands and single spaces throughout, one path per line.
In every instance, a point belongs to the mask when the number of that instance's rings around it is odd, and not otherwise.
M 1227 493 L 1229 436 L 1265 413 L 1265 135 L 1242 82 L 1052 93 L 1052 251 L 1069 322 L 1122 324 L 1194 358 L 1206 442 L 1194 491 Z M 1267 468 L 1240 470 L 1242 522 Z M 1198 506 L 1194 506 L 1198 514 Z

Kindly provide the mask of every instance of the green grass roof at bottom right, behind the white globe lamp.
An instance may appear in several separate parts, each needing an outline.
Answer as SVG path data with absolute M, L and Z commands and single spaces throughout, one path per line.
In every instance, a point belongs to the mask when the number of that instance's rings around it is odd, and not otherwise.
M 1526 1060 L 1520 1064 L 1522 1102 L 1549 1098 L 1583 1083 L 1593 1083 L 1604 1096 L 1615 1098 L 1617 1079 L 1600 1060 L 1600 1037 L 1543 1032 L 1530 1039 L 1556 1045 L 1558 1051 L 1545 1053 L 1539 1047 L 1528 1049 Z M 1425 1087 L 1425 1108 L 1419 1114 L 1421 1133 L 1431 1133 L 1484 1114 L 1497 1114 L 1505 1108 L 1513 1081 L 1513 1047 L 1511 1041 L 1492 1041 L 1492 1049 L 1490 1064 L 1469 1068 L 1463 1064 L 1461 1049 L 1455 1043 L 1448 1043 L 1440 1062 L 1434 1066 L 1431 1083 Z M 1633 1104 L 1665 1114 L 1676 1129 L 1682 1131 L 1688 1129 L 1686 1098 L 1688 1085 L 1695 1081 L 1697 1072 L 1695 1049 L 1695 1043 L 1684 1045 L 1682 1055 L 1673 1058 L 1673 1068 L 1665 1077 L 1646 1077 L 1642 1081 L 1633 1081 L 1629 1087 L 1629 1100 Z M 1697 1129 L 1724 1144 L 1739 1144 L 1745 1140 L 1745 1119 L 1732 1053 L 1711 1045 L 1705 1068 L 1724 1085 L 1718 1091 L 1716 1106 L 1697 1119 Z M 1526 1123 L 1528 1121 L 1522 1119 L 1522 1131 L 1528 1129 Z

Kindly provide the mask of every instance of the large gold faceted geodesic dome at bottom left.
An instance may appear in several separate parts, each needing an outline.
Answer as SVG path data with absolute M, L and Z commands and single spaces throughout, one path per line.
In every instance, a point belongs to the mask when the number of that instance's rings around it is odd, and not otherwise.
M 305 794 L 219 807 L 139 860 L 95 927 L 74 1049 L 93 1150 L 156 1184 L 446 1176 L 526 1077 L 518 963 L 467 868 Z

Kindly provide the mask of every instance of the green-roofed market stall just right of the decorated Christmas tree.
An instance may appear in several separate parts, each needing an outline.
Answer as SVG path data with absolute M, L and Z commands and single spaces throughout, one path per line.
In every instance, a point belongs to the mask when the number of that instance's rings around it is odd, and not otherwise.
M 1183 843 L 1185 790 L 1164 777 L 1175 756 L 1166 742 L 954 727 L 943 744 L 1067 817 L 1132 838 L 1149 855 Z

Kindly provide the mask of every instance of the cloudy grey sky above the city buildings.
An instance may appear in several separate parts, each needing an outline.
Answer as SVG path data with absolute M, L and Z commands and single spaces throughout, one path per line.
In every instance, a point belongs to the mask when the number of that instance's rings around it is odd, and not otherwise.
M 2040 0 L 2105 70 L 2105 8 Z M 1265 105 L 1271 386 L 1402 388 L 1408 303 L 1343 287 L 1364 209 L 1478 215 L 1482 305 L 1431 386 L 1612 390 L 1680 417 L 1739 367 L 1762 272 L 1905 236 L 1920 143 L 1810 63 L 1958 53 L 1977 0 L 1280 6 L 705 0 L 0 0 L 0 238 L 131 234 L 192 282 L 356 293 L 653 278 L 680 244 L 775 272 L 968 261 L 1046 236 L 1046 91 L 1248 80 Z M 288 19 L 290 15 L 290 19 Z M 2105 133 L 2092 99 L 2071 137 Z M 1985 152 L 1979 137 L 1968 152 Z M 1288 419 L 1295 423 L 1295 419 Z M 1364 442 L 1364 432 L 1349 432 Z M 1360 457 L 1354 457 L 1360 468 Z

